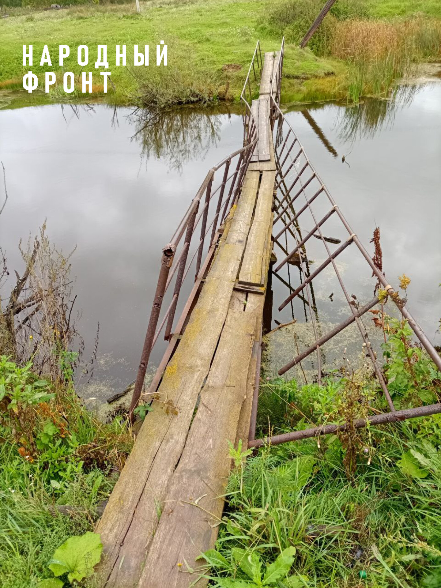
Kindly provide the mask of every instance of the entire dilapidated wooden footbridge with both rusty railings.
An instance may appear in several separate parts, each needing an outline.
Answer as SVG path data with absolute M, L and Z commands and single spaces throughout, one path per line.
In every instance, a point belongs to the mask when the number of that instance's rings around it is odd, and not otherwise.
M 393 292 L 332 199 L 325 218 L 314 218 L 312 232 L 302 238 L 296 230 L 299 215 L 319 195 L 328 198 L 329 194 L 292 129 L 283 135 L 286 121 L 279 108 L 282 65 L 283 43 L 279 52 L 265 54 L 264 63 L 260 46 L 256 46 L 242 92 L 243 147 L 209 171 L 163 249 L 131 405 L 133 413 L 142 397 L 145 403 L 151 402 L 151 412 L 96 529 L 106 555 L 103 587 L 184 588 L 198 580 L 198 574 L 189 571 L 200 569 L 199 556 L 216 540 L 231 466 L 228 442 L 237 446 L 242 439 L 244 447 L 264 442 L 254 440 L 254 434 L 263 303 L 273 245 L 282 250 L 280 267 L 290 256 L 298 255 L 302 283 L 292 289 L 288 300 L 306 291 L 303 299 L 310 312 L 313 302 L 308 285 L 313 275 L 328 264 L 338 273 L 334 260 L 352 243 L 364 252 L 387 292 Z M 312 188 L 314 182 L 317 186 Z M 301 196 L 306 203 L 295 209 L 293 202 Z M 303 267 L 305 243 L 313 234 L 322 235 L 320 226 L 332 215 L 341 220 L 347 239 L 334 252 L 323 240 L 326 260 L 311 274 Z M 293 239 L 294 249 L 288 239 L 283 245 L 282 235 Z M 185 280 L 188 275 L 194 281 Z M 181 304 L 184 293 L 188 299 Z M 368 308 L 354 308 L 348 300 L 350 316 L 340 325 L 342 330 L 356 322 L 369 350 L 361 321 L 377 301 L 375 297 Z M 175 320 L 178 310 L 181 315 Z M 441 369 L 430 342 L 404 306 L 401 310 Z M 313 315 L 311 320 L 315 325 Z M 145 389 L 146 366 L 162 332 L 168 346 Z M 318 333 L 311 348 L 303 350 L 292 365 L 316 353 L 320 382 L 320 346 L 333 334 L 320 339 Z M 373 353 L 371 359 L 378 372 Z M 389 400 L 384 377 L 377 375 Z M 429 409 L 440 412 L 440 406 Z M 392 403 L 385 416 L 389 420 L 394 415 L 398 415 L 395 420 L 408 417 L 400 416 L 402 412 L 395 411 Z M 300 433 L 313 436 L 320 430 Z M 204 583 L 201 578 L 197 586 Z

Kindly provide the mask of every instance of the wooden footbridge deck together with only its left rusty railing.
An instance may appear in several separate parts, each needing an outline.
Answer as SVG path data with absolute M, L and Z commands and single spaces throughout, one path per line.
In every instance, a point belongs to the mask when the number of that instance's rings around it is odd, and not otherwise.
M 171 588 L 194 582 L 195 576 L 185 573 L 187 565 L 198 567 L 196 559 L 213 546 L 222 516 L 231 463 L 228 441 L 242 439 L 245 447 L 248 442 L 272 252 L 276 165 L 269 93 L 279 88 L 279 59 L 280 53 L 266 54 L 262 69 L 256 47 L 243 91 L 244 147 L 209 172 L 163 252 L 158 311 L 163 283 L 171 282 L 173 270 L 177 274 L 162 320 L 170 342 L 150 387 L 153 410 L 98 524 L 106 552 L 106 587 Z M 260 96 L 251 101 L 248 94 L 261 69 Z M 215 189 L 216 172 L 220 182 Z M 211 202 L 216 202 L 216 209 L 210 227 Z M 197 223 L 201 235 L 190 260 L 189 243 Z M 201 263 L 208 233 L 208 252 Z M 172 333 L 179 290 L 194 262 L 195 286 Z M 148 333 L 148 353 L 155 329 L 156 325 Z M 143 356 L 142 366 L 147 361 Z M 132 406 L 141 392 L 143 373 L 140 378 Z

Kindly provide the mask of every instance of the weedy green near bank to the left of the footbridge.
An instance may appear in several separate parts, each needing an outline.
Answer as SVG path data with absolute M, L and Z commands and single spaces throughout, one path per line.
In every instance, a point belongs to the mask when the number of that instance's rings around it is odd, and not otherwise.
M 54 577 L 55 550 L 93 531 L 132 439 L 116 420 L 98 422 L 71 385 L 5 356 L 0 407 L 0 585 L 36 588 Z M 48 588 L 71 585 L 64 580 Z

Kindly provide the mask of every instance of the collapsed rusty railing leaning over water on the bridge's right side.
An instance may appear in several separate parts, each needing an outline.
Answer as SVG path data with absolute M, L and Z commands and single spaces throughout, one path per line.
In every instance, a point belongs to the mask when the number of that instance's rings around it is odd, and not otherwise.
M 352 245 L 352 243 L 355 243 L 359 253 L 361 253 L 363 258 L 365 258 L 370 269 L 372 270 L 372 275 L 376 278 L 379 285 L 382 286 L 382 288 L 387 292 L 387 295 L 389 295 L 392 300 L 394 298 L 397 299 L 397 295 L 393 290 L 392 286 L 390 286 L 390 284 L 387 282 L 383 273 L 380 271 L 379 268 L 377 268 L 373 260 L 370 258 L 368 252 L 363 247 L 358 236 L 355 232 L 353 232 L 352 228 L 349 226 L 349 223 L 345 219 L 345 216 L 343 216 L 343 213 L 340 212 L 340 209 L 336 205 L 336 202 L 330 195 L 325 184 L 322 182 L 322 179 L 318 175 L 316 169 L 313 167 L 312 163 L 310 163 L 308 156 L 305 153 L 305 149 L 300 143 L 298 136 L 293 131 L 292 126 L 286 120 L 283 112 L 280 110 L 280 80 L 282 78 L 283 51 L 284 40 L 282 41 L 279 63 L 276 68 L 276 75 L 273 76 L 272 88 L 269 96 L 271 128 L 275 129 L 276 125 L 275 159 L 276 166 L 278 169 L 275 186 L 277 194 L 275 195 L 275 219 L 273 223 L 273 242 L 276 245 L 278 245 L 279 249 L 282 250 L 284 255 L 282 261 L 278 263 L 274 272 L 277 274 L 286 265 L 286 263 L 288 263 L 289 260 L 293 258 L 293 256 L 297 256 L 303 280 L 297 288 L 290 292 L 288 298 L 286 298 L 279 306 L 279 310 L 285 308 L 285 306 L 288 305 L 288 303 L 291 300 L 293 300 L 296 296 L 299 296 L 300 292 L 306 289 L 306 299 L 303 298 L 303 300 L 305 302 L 305 305 L 309 308 L 309 315 L 315 342 L 313 343 L 313 345 L 309 346 L 308 349 L 304 350 L 301 353 L 298 353 L 298 355 L 294 359 L 292 359 L 289 363 L 280 368 L 278 370 L 278 373 L 279 375 L 283 375 L 284 373 L 288 372 L 290 368 L 293 368 L 293 366 L 299 365 L 303 359 L 307 358 L 312 353 L 316 353 L 317 381 L 320 384 L 322 379 L 320 348 L 324 345 L 324 343 L 328 342 L 335 335 L 342 332 L 343 329 L 345 329 L 349 325 L 352 325 L 352 323 L 355 322 L 360 333 L 360 338 L 362 339 L 369 359 L 372 362 L 376 378 L 379 381 L 383 394 L 387 400 L 387 405 L 389 406 L 390 411 L 380 415 L 370 416 L 366 419 L 360 419 L 356 421 L 356 423 L 354 423 L 355 427 L 365 427 L 368 425 L 368 423 L 373 425 L 380 423 L 397 422 L 400 420 L 412 419 L 418 416 L 426 416 L 440 413 L 441 403 L 436 403 L 429 406 L 413 407 L 411 409 L 406 410 L 396 410 L 393 404 L 393 400 L 390 396 L 389 390 L 387 389 L 387 383 L 382 373 L 381 366 L 379 366 L 377 363 L 377 358 L 375 352 L 372 349 L 372 345 L 369 341 L 368 333 L 366 332 L 366 328 L 361 320 L 362 316 L 379 302 L 379 298 L 378 296 L 374 296 L 374 298 L 370 300 L 362 308 L 356 308 L 354 305 L 353 297 L 349 295 L 348 289 L 343 283 L 341 272 L 339 271 L 335 262 L 336 258 L 346 248 Z M 324 196 L 327 199 L 328 206 L 330 205 L 331 208 L 328 209 L 328 212 L 326 212 L 324 216 L 318 219 L 316 213 L 313 210 L 312 204 L 316 201 L 316 199 L 319 198 L 320 195 L 322 195 L 322 198 Z M 302 196 L 304 201 L 302 201 L 301 199 Z M 298 198 L 300 198 L 299 201 Z M 299 208 L 295 209 L 294 203 Z M 299 228 L 300 216 L 306 211 L 308 211 L 310 213 L 310 216 L 312 217 L 313 228 L 308 232 L 308 234 L 304 238 L 300 239 L 296 228 Z M 348 239 L 346 239 L 345 242 L 343 242 L 342 245 L 340 245 L 333 252 L 331 252 L 328 243 L 326 242 L 326 239 L 323 237 L 322 233 L 322 226 L 331 217 L 337 218 L 340 222 L 340 225 L 348 232 Z M 290 249 L 288 246 L 288 239 L 285 240 L 285 246 L 280 242 L 280 239 L 282 237 L 286 238 L 288 233 L 290 237 L 294 239 L 295 242 L 295 246 L 292 249 Z M 305 243 L 308 242 L 310 237 L 313 235 L 318 236 L 323 246 L 325 247 L 326 259 L 323 263 L 319 265 L 319 267 L 314 272 L 309 273 L 309 269 L 305 268 L 307 258 L 305 258 L 303 252 L 305 250 Z M 344 298 L 348 303 L 350 314 L 346 320 L 343 320 L 342 323 L 340 323 L 334 329 L 330 330 L 328 333 L 326 333 L 326 335 L 319 337 L 316 328 L 316 320 L 312 312 L 312 309 L 314 307 L 313 300 L 311 299 L 308 285 L 310 284 L 310 282 L 312 282 L 314 278 L 316 278 L 316 276 L 319 275 L 319 273 L 321 273 L 329 265 L 332 266 L 335 272 L 335 276 L 338 279 Z M 409 323 L 409 326 L 412 328 L 413 332 L 415 333 L 417 339 L 419 339 L 423 348 L 426 350 L 430 358 L 435 363 L 437 369 L 441 371 L 441 357 L 436 352 L 432 343 L 430 343 L 429 339 L 427 339 L 423 330 L 416 323 L 415 319 L 413 319 L 413 316 L 410 314 L 409 310 L 406 309 L 406 306 L 400 302 L 396 302 L 396 305 L 399 309 L 399 312 Z M 249 447 L 261 447 L 268 443 L 271 445 L 278 445 L 279 443 L 285 443 L 298 439 L 305 439 L 307 437 L 326 435 L 329 433 L 335 433 L 338 430 L 345 430 L 345 428 L 348 426 L 348 423 L 329 424 L 326 426 L 316 426 L 310 429 L 284 433 L 283 435 L 270 436 L 266 437 L 265 439 L 255 439 L 257 397 L 259 389 L 258 383 L 259 379 L 256 378 L 255 401 L 253 402 L 253 407 L 255 407 L 255 410 L 253 410 L 252 412 L 252 420 L 250 423 L 248 443 Z

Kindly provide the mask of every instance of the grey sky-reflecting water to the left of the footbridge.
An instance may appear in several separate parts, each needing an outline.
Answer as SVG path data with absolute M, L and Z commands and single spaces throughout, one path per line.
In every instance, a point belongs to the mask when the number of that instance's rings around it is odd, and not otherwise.
M 188 134 L 198 141 L 173 144 L 171 157 L 148 136 L 131 141 L 138 121 L 130 112 L 118 110 L 119 126 L 104 106 L 78 116 L 65 106 L 65 118 L 60 106 L 0 112 L 9 193 L 0 234 L 9 268 L 21 271 L 19 239 L 45 218 L 59 248 L 77 246 L 79 330 L 90 352 L 99 322 L 95 376 L 116 389 L 135 379 L 163 245 L 206 171 L 242 141 L 239 116 L 191 113 Z

